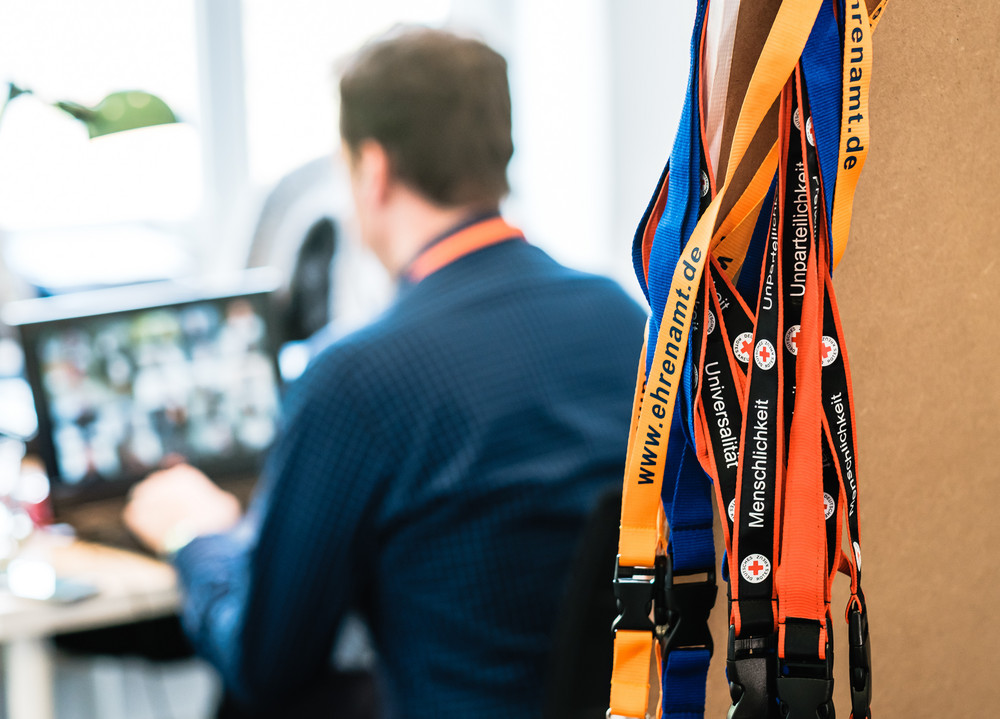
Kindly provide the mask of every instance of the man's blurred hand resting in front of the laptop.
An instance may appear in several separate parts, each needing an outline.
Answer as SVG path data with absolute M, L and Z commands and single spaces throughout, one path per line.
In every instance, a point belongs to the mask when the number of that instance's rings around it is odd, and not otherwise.
M 194 467 L 181 464 L 135 485 L 122 518 L 143 544 L 164 554 L 179 549 L 171 545 L 184 540 L 232 529 L 240 515 L 235 496 Z

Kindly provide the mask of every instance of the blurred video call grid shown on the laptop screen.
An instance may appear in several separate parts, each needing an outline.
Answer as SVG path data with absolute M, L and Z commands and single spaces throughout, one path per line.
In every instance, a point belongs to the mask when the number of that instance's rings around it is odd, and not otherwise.
M 266 294 L 22 328 L 43 451 L 63 494 L 188 461 L 250 473 L 274 438 L 279 387 Z M 110 489 L 110 487 L 108 487 Z

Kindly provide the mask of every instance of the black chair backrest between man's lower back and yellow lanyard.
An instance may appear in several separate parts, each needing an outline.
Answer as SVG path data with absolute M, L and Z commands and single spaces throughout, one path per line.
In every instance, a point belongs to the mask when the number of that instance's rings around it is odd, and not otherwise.
M 618 554 L 621 487 L 591 513 L 570 566 L 552 640 L 543 719 L 603 719 L 611 687 L 618 614 L 612 577 Z

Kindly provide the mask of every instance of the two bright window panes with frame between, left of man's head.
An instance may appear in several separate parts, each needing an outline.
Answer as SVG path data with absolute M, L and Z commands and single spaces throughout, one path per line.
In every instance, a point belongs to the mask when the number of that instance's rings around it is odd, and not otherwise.
M 36 94 L 12 102 L 0 127 L 0 234 L 17 274 L 62 290 L 215 269 L 226 255 L 211 245 L 249 242 L 260 195 L 333 150 L 334 61 L 396 23 L 442 23 L 450 7 L 230 0 L 208 13 L 206 1 L 0 4 L 0 80 Z M 219 18 L 238 24 L 241 14 L 242 27 L 220 27 Z M 242 32 L 242 64 L 239 55 L 212 54 L 232 38 L 213 34 L 220 30 Z M 199 31 L 208 33 L 201 54 Z M 199 93 L 228 83 L 246 90 L 245 146 L 218 136 L 232 115 L 200 122 L 220 107 L 200 106 Z M 160 96 L 182 123 L 90 142 L 82 125 L 44 102 L 93 105 L 126 89 Z

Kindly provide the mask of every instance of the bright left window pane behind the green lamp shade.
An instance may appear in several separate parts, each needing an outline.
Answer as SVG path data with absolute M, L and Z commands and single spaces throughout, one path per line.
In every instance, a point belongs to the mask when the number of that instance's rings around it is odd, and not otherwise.
M 0 230 L 9 234 L 8 263 L 31 281 L 54 285 L 70 272 L 83 282 L 91 273 L 114 281 L 107 270 L 133 260 L 140 271 L 128 270 L 132 279 L 184 265 L 177 238 L 189 233 L 201 197 L 196 125 L 90 142 L 81 124 L 45 101 L 94 105 L 113 91 L 143 89 L 196 121 L 193 8 L 192 0 L 0 4 L 0 79 L 36 94 L 14 100 L 0 126 Z M 146 227 L 126 237 L 125 223 Z M 68 229 L 98 226 L 117 229 Z M 40 276 L 48 270 L 59 282 Z

